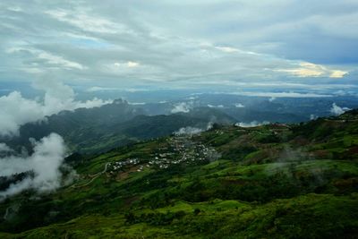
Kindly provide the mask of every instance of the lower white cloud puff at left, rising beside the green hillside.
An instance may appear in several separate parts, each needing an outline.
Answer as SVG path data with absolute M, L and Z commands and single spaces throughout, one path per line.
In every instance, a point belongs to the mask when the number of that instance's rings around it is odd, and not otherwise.
M 33 172 L 20 182 L 10 184 L 0 199 L 27 189 L 38 192 L 53 191 L 61 185 L 60 166 L 64 163 L 66 148 L 61 136 L 51 133 L 40 141 L 34 141 L 34 152 L 28 157 L 11 156 L 0 158 L 0 176 Z

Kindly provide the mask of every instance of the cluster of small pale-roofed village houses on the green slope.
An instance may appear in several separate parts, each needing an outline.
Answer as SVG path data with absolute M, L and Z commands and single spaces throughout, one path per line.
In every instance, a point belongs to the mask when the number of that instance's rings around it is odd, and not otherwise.
M 150 158 L 126 158 L 108 163 L 107 173 L 115 175 L 132 167 L 141 172 L 144 168 L 166 169 L 179 164 L 193 164 L 200 161 L 213 161 L 219 158 L 219 153 L 204 144 L 192 141 L 190 135 L 175 135 L 166 139 L 166 146 L 160 147 Z

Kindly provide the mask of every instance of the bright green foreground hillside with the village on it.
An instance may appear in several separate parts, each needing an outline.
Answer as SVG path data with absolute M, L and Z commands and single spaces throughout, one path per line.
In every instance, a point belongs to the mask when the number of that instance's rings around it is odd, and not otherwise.
M 2 238 L 356 238 L 358 112 L 214 127 L 67 158 L 79 178 L 0 204 Z

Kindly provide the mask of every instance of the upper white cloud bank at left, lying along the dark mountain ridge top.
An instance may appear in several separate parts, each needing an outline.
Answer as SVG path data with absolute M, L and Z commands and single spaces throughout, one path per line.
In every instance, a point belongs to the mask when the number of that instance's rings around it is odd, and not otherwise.
M 23 98 L 18 91 L 0 98 L 0 135 L 17 134 L 22 124 L 37 122 L 46 115 L 57 114 L 62 110 L 100 107 L 111 103 L 98 98 L 76 101 L 72 88 L 58 81 L 36 81 L 33 87 L 45 91 L 42 101 Z

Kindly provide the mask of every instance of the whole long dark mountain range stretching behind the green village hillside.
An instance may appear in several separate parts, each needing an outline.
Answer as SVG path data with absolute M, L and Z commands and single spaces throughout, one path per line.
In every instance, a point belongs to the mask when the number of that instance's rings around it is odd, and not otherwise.
M 51 132 L 64 137 L 72 151 L 94 152 L 107 150 L 135 141 L 166 136 L 182 127 L 206 129 L 209 122 L 233 124 L 234 118 L 208 107 L 195 108 L 189 113 L 173 115 L 144 115 L 140 107 L 133 107 L 117 99 L 103 107 L 80 108 L 47 116 L 40 123 L 24 124 L 20 136 L 2 139 L 13 149 L 31 149 L 30 138 L 39 140 Z

